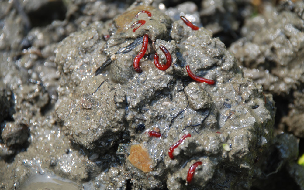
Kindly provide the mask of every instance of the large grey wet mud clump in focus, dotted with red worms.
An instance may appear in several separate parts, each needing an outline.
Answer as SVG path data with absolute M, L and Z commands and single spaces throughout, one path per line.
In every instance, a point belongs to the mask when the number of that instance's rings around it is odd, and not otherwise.
M 141 10 L 151 16 L 136 17 Z M 138 20 L 145 24 L 133 32 Z M 182 20 L 136 3 L 113 20 L 108 40 L 102 38 L 103 27 L 95 22 L 74 32 L 56 50 L 61 78 L 55 109 L 67 137 L 99 155 L 116 148 L 133 189 L 250 188 L 258 175 L 254 160 L 272 140 L 274 102 L 271 96 L 265 101 L 261 85 L 243 78 L 223 42 L 202 27 L 192 30 Z M 142 41 L 144 34 L 149 40 L 139 62 L 142 73 L 137 73 L 133 60 L 142 43 L 117 52 Z M 167 61 L 159 46 L 172 58 L 164 71 L 153 62 L 155 53 L 161 64 Z M 95 76 L 106 62 L 110 66 Z M 215 84 L 190 79 L 187 65 Z M 140 124 L 143 131 L 136 130 Z M 149 135 L 157 131 L 160 137 Z M 191 137 L 170 158 L 170 146 L 185 134 Z M 197 161 L 202 165 L 190 183 L 188 170 Z M 247 177 L 240 180 L 240 175 Z

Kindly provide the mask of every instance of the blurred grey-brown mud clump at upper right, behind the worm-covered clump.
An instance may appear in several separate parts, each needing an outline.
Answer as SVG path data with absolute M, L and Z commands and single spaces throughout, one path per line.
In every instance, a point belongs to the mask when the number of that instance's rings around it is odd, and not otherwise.
M 263 14 L 244 24 L 244 38 L 230 47 L 246 67 L 244 75 L 276 95 L 286 96 L 303 83 L 304 68 L 299 63 L 303 59 L 304 21 L 297 13 L 300 7 L 304 7 L 302 1 L 296 2 L 292 11 L 266 4 Z

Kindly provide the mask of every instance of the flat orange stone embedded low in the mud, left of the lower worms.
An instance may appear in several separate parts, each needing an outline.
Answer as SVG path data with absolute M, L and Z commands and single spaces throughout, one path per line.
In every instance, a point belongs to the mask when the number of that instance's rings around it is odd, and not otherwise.
M 145 173 L 153 171 L 152 161 L 148 154 L 148 150 L 141 144 L 134 144 L 131 146 L 128 160 L 133 166 Z

